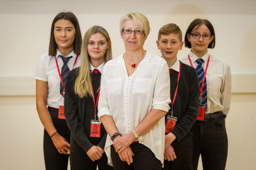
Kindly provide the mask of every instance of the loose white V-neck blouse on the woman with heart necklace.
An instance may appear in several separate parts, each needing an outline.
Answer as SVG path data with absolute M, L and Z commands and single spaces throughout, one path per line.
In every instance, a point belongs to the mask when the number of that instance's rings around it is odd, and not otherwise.
M 124 53 L 123 53 L 124 54 Z M 135 72 L 128 76 L 123 54 L 104 65 L 98 102 L 98 117 L 109 115 L 121 134 L 134 129 L 152 109 L 169 111 L 170 79 L 166 61 L 147 52 Z M 163 164 L 164 117 L 138 138 Z M 112 165 L 108 135 L 105 152 Z

